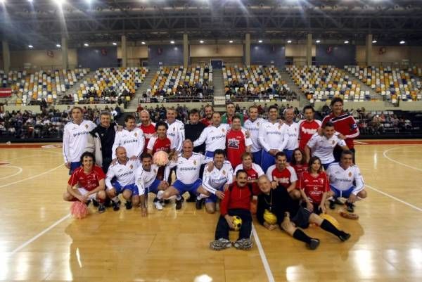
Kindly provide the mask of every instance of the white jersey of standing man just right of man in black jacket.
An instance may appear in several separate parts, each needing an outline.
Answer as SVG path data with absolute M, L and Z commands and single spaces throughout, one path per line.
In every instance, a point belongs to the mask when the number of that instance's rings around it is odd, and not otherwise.
M 116 148 L 122 146 L 126 149 L 128 158 L 132 156 L 139 157 L 143 150 L 145 138 L 143 137 L 142 129 L 136 127 L 130 131 L 123 129 L 121 132 L 116 132 L 115 142 L 113 144 L 112 158 L 116 158 Z

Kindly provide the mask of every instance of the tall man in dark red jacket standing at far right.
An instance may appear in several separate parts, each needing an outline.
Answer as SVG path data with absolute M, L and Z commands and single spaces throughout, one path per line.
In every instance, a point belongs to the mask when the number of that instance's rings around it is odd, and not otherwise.
M 342 98 L 333 98 L 333 100 L 331 100 L 331 108 L 333 109 L 333 112 L 330 115 L 324 117 L 322 120 L 322 125 L 326 124 L 327 122 L 333 122 L 335 131 L 345 136 L 347 148 L 349 148 L 353 153 L 353 163 L 356 163 L 354 159 L 353 140 L 359 136 L 359 127 L 357 127 L 356 121 L 352 115 L 343 111 Z M 340 162 L 340 156 L 342 152 L 343 149 L 339 146 L 334 148 L 333 154 L 336 162 Z

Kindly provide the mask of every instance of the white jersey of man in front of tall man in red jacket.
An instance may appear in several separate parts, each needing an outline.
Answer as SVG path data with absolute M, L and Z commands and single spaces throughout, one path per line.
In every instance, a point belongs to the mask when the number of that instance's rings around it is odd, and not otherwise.
M 321 163 L 326 165 L 334 162 L 333 150 L 337 144 L 341 147 L 346 146 L 346 142 L 339 139 L 337 135 L 333 135 L 331 138 L 327 139 L 326 136 L 321 136 L 316 133 L 312 135 L 307 146 L 312 150 L 312 156 L 318 157 L 321 160 Z

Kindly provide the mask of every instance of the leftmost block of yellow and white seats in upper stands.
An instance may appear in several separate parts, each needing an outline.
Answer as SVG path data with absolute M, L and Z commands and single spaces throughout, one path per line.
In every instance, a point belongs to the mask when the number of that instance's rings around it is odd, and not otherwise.
M 89 69 L 40 70 L 33 73 L 20 70 L 10 71 L 7 75 L 0 72 L 0 77 L 1 86 L 10 87 L 17 95 L 16 103 L 27 105 L 30 101 L 41 101 L 42 98 L 53 103 L 88 72 Z

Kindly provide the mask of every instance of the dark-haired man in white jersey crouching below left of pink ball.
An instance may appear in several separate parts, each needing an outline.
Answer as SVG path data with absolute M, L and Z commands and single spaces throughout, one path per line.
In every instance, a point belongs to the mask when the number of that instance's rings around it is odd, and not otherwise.
M 142 215 L 146 216 L 148 193 L 154 193 L 156 195 L 158 191 L 164 191 L 169 184 L 167 181 L 157 178 L 159 167 L 153 164 L 152 155 L 143 153 L 141 155 L 141 162 L 142 166 L 135 170 L 135 184 L 139 190 Z M 154 205 L 157 210 L 162 210 L 162 203 L 157 197 L 154 198 Z

